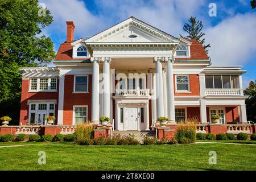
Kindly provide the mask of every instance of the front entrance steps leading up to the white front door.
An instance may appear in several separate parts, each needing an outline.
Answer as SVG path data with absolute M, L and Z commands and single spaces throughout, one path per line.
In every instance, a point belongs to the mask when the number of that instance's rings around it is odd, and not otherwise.
M 142 143 L 144 137 L 155 137 L 155 131 L 112 131 L 112 137 L 114 135 L 129 136 L 134 135 L 134 138 Z

